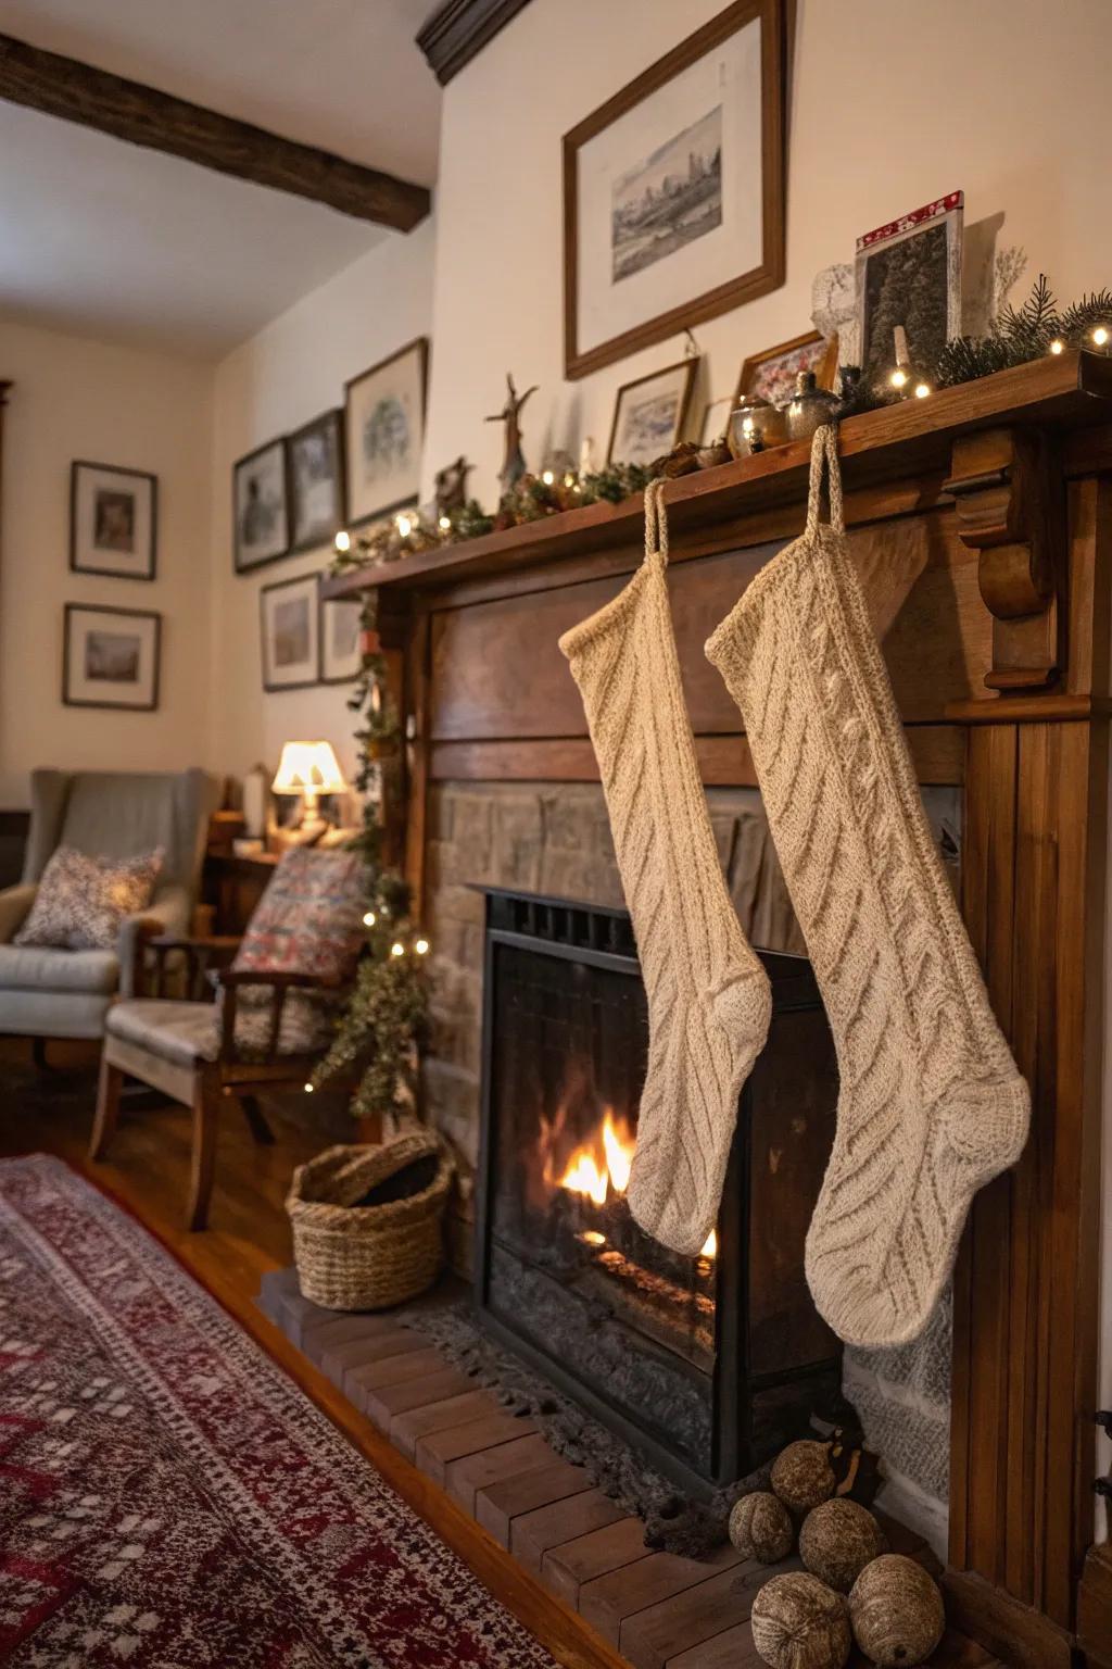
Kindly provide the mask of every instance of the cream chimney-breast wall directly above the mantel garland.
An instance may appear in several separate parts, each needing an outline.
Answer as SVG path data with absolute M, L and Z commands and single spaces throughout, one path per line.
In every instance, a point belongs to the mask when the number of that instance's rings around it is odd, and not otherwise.
M 619 384 L 682 337 L 564 382 L 560 137 L 722 10 L 724 0 L 532 0 L 445 90 L 427 474 L 460 449 L 495 492 L 503 376 L 540 384 L 525 454 L 605 449 Z M 967 220 L 1004 212 L 1004 244 L 1064 299 L 1105 282 L 1107 0 L 799 0 L 789 134 L 787 284 L 700 325 L 702 392 L 729 394 L 747 352 L 810 327 L 814 275 L 854 239 L 942 192 Z

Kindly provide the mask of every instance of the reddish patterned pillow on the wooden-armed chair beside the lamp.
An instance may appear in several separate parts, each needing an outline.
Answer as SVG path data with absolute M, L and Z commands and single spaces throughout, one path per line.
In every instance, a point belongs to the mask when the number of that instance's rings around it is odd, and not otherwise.
M 232 966 L 345 983 L 363 945 L 363 880 L 353 851 L 293 846 L 255 906 Z

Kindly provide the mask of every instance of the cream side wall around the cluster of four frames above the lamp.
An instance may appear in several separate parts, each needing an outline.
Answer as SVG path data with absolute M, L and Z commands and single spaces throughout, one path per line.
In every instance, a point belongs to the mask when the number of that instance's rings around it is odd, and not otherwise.
M 315 572 L 330 547 L 272 562 L 255 574 L 232 567 L 232 464 L 255 446 L 343 404 L 343 384 L 417 335 L 432 334 L 433 220 L 392 235 L 303 297 L 217 367 L 212 472 L 212 756 L 242 776 L 278 763 L 282 743 L 327 738 L 353 766 L 348 684 L 265 694 L 258 592 Z

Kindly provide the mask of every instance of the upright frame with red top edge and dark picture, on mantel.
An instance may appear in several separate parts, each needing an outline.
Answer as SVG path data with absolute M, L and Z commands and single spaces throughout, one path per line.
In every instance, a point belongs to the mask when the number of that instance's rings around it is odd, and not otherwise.
M 857 239 L 860 366 L 869 387 L 895 369 L 895 330 L 910 364 L 930 374 L 962 334 L 964 194 L 950 192 Z

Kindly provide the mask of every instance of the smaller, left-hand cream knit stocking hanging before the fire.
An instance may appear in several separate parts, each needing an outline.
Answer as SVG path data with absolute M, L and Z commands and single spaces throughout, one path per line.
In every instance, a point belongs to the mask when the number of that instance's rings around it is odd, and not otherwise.
M 669 609 L 664 482 L 645 561 L 560 638 L 584 696 L 649 993 L 649 1071 L 629 1205 L 675 1252 L 719 1215 L 742 1083 L 764 1048 L 769 980 L 725 888 L 699 779 Z

